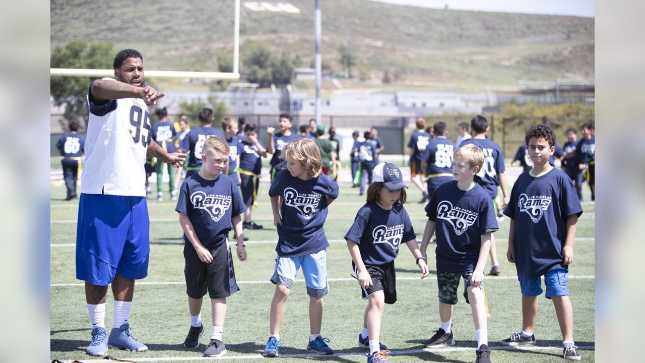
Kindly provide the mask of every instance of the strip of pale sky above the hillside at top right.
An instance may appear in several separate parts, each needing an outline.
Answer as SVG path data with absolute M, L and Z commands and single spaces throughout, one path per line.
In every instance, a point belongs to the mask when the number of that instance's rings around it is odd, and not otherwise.
M 595 16 L 595 0 L 372 0 L 382 3 L 444 8 L 479 10 L 488 12 L 514 12 L 572 16 Z

